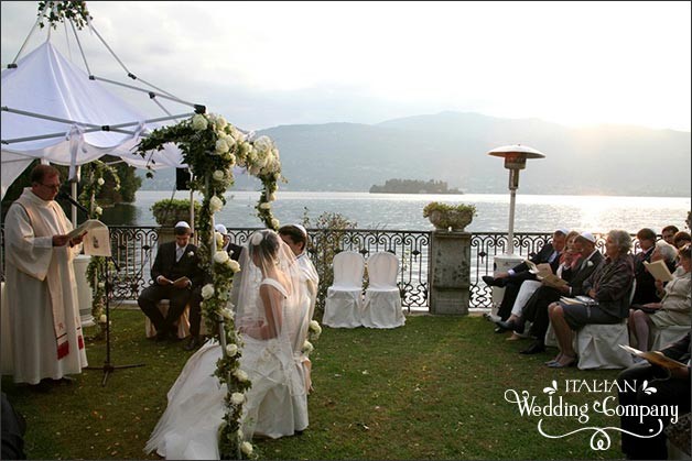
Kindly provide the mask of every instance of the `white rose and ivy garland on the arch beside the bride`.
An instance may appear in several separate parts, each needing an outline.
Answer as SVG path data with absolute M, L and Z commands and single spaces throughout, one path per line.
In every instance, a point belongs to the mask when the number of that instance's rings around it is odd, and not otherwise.
M 215 375 L 227 385 L 226 415 L 219 428 L 219 453 L 223 459 L 253 458 L 253 447 L 242 441 L 240 417 L 245 391 L 251 383 L 240 370 L 242 345 L 236 334 L 229 293 L 238 263 L 228 257 L 221 246 L 221 235 L 214 232 L 214 213 L 226 204 L 224 193 L 234 184 L 234 166 L 244 167 L 262 183 L 262 191 L 256 206 L 258 217 L 268 228 L 279 229 L 279 220 L 271 212 L 281 176 L 279 151 L 268 136 L 252 139 L 226 122 L 223 117 L 197 113 L 177 124 L 154 130 L 138 145 L 137 152 L 147 157 L 149 151 L 161 151 L 164 144 L 174 143 L 183 153 L 183 161 L 193 173 L 191 187 L 204 195 L 199 213 L 199 260 L 203 271 L 212 282 L 202 288 L 202 311 L 207 330 L 220 340 L 215 319 L 224 319 L 225 351 L 217 362 Z M 221 342 L 224 344 L 224 342 Z

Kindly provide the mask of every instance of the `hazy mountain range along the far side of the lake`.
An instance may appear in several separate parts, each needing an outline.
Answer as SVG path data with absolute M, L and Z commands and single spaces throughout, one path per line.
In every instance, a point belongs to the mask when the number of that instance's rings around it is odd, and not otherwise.
M 279 146 L 288 183 L 280 190 L 368 191 L 387 179 L 444 180 L 467 194 L 508 190 L 498 146 L 523 144 L 529 160 L 519 189 L 528 194 L 690 195 L 690 132 L 631 125 L 570 128 L 539 119 L 441 112 L 377 124 L 280 125 L 258 131 Z M 140 174 L 143 174 L 140 172 Z M 156 172 L 142 189 L 170 190 L 174 172 Z M 239 176 L 236 189 L 259 183 Z

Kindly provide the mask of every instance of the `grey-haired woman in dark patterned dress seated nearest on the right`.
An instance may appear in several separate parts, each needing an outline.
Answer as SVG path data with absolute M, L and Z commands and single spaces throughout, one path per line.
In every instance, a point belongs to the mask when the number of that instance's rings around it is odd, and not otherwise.
M 606 239 L 606 259 L 584 282 L 593 305 L 553 303 L 548 315 L 555 330 L 560 353 L 548 366 L 561 369 L 576 363 L 572 345 L 574 330 L 588 323 L 617 323 L 629 315 L 629 294 L 635 279 L 631 239 L 624 230 L 612 230 Z

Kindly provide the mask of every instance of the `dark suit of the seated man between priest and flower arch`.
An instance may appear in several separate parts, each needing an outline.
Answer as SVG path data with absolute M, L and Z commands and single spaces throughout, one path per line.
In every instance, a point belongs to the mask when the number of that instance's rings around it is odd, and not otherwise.
M 175 261 L 176 243 L 167 242 L 159 246 L 159 252 L 151 267 L 151 277 L 153 284 L 144 288 L 139 296 L 137 303 L 144 315 L 149 317 L 156 328 L 159 337 L 174 334 L 175 327 L 173 323 L 177 321 L 187 301 L 196 301 L 198 296 L 192 296 L 193 292 L 202 289 L 203 273 L 199 270 L 199 257 L 197 256 L 197 246 L 192 243 L 187 244 L 180 261 Z M 156 279 L 160 275 L 174 282 L 180 277 L 187 277 L 192 282 L 191 286 L 185 288 L 175 288 L 173 285 L 159 285 Z M 156 303 L 161 299 L 169 299 L 169 312 L 164 318 Z M 191 306 L 191 309 L 193 306 Z

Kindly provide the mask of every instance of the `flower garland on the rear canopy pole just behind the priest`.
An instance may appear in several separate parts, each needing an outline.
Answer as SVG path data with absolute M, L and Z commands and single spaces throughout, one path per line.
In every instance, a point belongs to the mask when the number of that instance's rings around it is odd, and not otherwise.
M 104 176 L 108 174 L 113 182 L 113 189 L 120 190 L 120 177 L 118 171 L 104 162 L 96 160 L 84 166 L 82 166 L 82 174 L 84 175 L 85 183 L 82 188 L 82 194 L 77 199 L 84 207 L 89 210 L 89 219 L 98 219 L 104 210 L 98 206 L 96 196 L 101 191 L 101 188 L 106 184 Z M 106 268 L 106 264 L 108 267 Z M 115 272 L 115 264 L 112 261 L 107 261 L 105 256 L 91 256 L 89 264 L 86 268 L 86 279 L 91 287 L 91 316 L 101 326 L 101 329 L 106 325 L 106 315 L 104 314 L 105 299 L 106 299 L 106 282 L 102 272 Z

